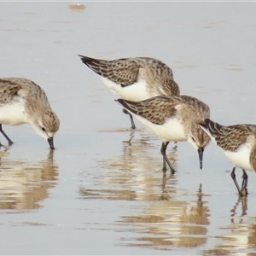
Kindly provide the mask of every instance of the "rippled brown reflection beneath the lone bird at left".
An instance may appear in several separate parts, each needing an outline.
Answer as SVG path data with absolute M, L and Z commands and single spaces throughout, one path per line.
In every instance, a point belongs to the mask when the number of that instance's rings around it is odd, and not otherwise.
M 58 167 L 53 160 L 53 150 L 46 160 L 37 163 L 26 160 L 1 159 L 0 209 L 38 208 L 47 189 L 55 185 Z

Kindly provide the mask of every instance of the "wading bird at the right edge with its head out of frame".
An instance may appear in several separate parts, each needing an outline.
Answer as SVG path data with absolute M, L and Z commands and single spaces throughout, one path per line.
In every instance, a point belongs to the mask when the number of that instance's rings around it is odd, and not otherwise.
M 245 170 L 256 171 L 256 125 L 224 126 L 210 119 L 206 119 L 200 125 L 233 163 L 230 175 L 239 195 L 247 195 L 248 177 Z M 241 188 L 236 181 L 236 167 L 242 170 Z

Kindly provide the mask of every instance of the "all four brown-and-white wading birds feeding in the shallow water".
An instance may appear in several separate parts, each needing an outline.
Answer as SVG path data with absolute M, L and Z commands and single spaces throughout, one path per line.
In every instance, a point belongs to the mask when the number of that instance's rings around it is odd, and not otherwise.
M 162 140 L 160 153 L 163 172 L 169 166 L 166 156 L 170 142 L 190 143 L 198 152 L 202 168 L 203 152 L 212 140 L 232 162 L 230 173 L 241 196 L 247 196 L 247 173 L 256 171 L 256 125 L 220 125 L 210 119 L 210 108 L 205 102 L 180 95 L 172 69 L 162 61 L 148 57 L 100 60 L 79 55 L 81 61 L 100 75 L 104 84 L 117 96 L 116 102 L 131 119 L 134 118 Z M 0 79 L 0 132 L 2 125 L 29 123 L 39 136 L 54 149 L 54 135 L 60 120 L 50 108 L 44 90 L 30 79 Z M 0 143 L 0 145 L 2 145 Z M 241 187 L 236 181 L 236 167 L 242 170 Z

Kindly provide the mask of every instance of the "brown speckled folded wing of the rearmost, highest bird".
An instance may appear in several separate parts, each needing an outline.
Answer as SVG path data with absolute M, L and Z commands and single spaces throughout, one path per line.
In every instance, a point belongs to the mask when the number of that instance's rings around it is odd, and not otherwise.
M 116 84 L 127 86 L 137 82 L 140 66 L 131 59 L 118 59 L 113 61 L 97 60 L 79 55 L 85 65 L 94 72 L 110 79 Z

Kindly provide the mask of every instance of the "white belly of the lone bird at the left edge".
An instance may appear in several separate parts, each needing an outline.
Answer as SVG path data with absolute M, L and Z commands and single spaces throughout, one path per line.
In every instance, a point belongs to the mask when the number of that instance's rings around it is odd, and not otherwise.
M 22 125 L 26 123 L 24 100 L 6 104 L 0 107 L 0 124 Z

